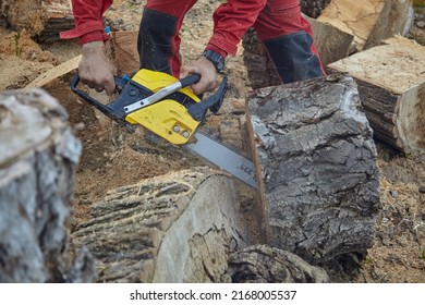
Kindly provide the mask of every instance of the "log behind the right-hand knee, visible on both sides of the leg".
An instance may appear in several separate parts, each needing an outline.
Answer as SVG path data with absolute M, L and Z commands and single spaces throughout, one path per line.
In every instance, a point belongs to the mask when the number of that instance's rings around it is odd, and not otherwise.
M 314 44 L 325 69 L 329 63 L 350 54 L 354 36 L 330 24 L 308 17 L 307 20 L 312 24 Z M 242 46 L 244 48 L 243 59 L 252 88 L 264 88 L 281 84 L 264 45 L 254 29 L 250 29 L 244 35 Z

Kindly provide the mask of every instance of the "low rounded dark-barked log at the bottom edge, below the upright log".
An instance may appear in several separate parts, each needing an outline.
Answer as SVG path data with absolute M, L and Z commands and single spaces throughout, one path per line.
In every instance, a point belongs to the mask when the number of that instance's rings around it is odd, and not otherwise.
M 233 283 L 327 283 L 325 270 L 299 256 L 267 245 L 255 245 L 230 256 Z

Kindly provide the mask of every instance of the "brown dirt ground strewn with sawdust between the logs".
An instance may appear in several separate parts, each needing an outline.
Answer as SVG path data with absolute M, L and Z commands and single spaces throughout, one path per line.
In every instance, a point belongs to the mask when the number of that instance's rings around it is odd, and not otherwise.
M 208 41 L 210 15 L 216 2 L 199 0 L 187 14 L 181 33 L 183 61 L 195 59 Z M 114 30 L 137 29 L 143 3 L 142 0 L 117 0 L 107 12 L 108 24 Z M 416 19 L 423 20 L 424 14 L 416 15 Z M 416 24 L 412 38 L 424 45 L 425 29 Z M 39 74 L 80 53 L 75 41 L 37 45 L 25 33 L 4 27 L 0 27 L 0 90 L 22 88 Z M 230 84 L 227 100 L 219 119 L 208 118 L 206 125 L 224 142 L 243 148 L 234 135 L 234 119 L 243 113 L 244 97 L 251 90 L 242 48 L 235 57 L 228 59 L 226 72 Z M 118 126 L 78 102 L 70 94 L 68 81 L 63 80 L 59 90 L 56 88 L 54 96 L 69 111 L 70 121 L 83 144 L 75 181 L 75 222 L 89 218 L 89 205 L 99 200 L 108 190 L 202 164 L 174 147 L 155 138 L 149 141 L 139 129 Z M 340 281 L 424 283 L 425 154 L 404 156 L 385 144 L 376 144 L 382 211 L 375 244 L 359 272 Z

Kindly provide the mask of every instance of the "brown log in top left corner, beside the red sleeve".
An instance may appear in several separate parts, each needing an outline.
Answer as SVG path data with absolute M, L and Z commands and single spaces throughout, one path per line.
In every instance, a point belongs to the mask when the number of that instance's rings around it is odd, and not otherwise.
M 60 32 L 74 27 L 70 0 L 1 0 L 0 19 L 42 42 L 59 40 Z

